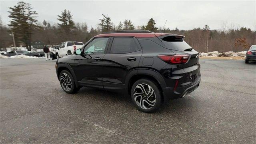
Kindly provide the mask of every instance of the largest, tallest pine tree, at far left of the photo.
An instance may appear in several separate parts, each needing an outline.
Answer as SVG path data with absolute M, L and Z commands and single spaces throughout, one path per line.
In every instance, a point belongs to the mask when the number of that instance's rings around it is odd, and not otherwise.
M 20 40 L 24 42 L 26 48 L 31 50 L 31 36 L 33 32 L 38 28 L 36 22 L 36 11 L 33 11 L 33 8 L 30 4 L 25 2 L 18 2 L 17 6 L 13 8 L 10 7 L 11 11 L 9 18 L 12 18 L 10 24 L 11 31 L 14 32 L 16 41 Z

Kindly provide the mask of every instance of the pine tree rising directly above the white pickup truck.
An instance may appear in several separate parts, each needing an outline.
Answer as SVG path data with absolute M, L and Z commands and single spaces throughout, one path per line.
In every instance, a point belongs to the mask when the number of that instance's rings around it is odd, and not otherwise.
M 58 23 L 59 28 L 64 30 L 66 34 L 69 34 L 70 31 L 75 28 L 75 23 L 72 20 L 71 12 L 65 9 L 63 12 L 61 12 L 61 15 L 58 15 L 58 17 L 58 20 L 61 22 Z

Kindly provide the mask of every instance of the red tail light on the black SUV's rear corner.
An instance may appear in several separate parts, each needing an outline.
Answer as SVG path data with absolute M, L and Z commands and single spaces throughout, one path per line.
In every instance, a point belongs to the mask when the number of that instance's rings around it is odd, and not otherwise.
M 189 56 L 185 54 L 176 54 L 173 56 L 158 55 L 157 57 L 168 64 L 185 64 L 189 58 Z

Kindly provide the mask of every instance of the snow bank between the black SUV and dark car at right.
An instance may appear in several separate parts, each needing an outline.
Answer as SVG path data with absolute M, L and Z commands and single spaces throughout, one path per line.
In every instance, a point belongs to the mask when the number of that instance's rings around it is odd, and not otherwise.
M 219 53 L 218 51 L 214 51 L 214 52 L 200 52 L 199 53 L 200 57 L 237 57 L 237 56 L 246 56 L 246 51 L 242 51 L 242 52 L 223 52 L 223 53 Z

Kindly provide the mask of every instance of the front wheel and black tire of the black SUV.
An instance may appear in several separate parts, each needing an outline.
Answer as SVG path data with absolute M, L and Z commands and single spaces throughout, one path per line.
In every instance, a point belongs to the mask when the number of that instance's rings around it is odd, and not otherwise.
M 65 75 L 67 75 L 70 78 L 70 81 L 68 80 L 69 82 L 65 82 L 66 86 L 65 86 L 65 84 L 63 84 L 63 80 L 64 80 L 63 76 L 65 76 Z M 74 94 L 74 93 L 78 92 L 78 90 L 80 90 L 80 87 L 78 87 L 78 88 L 76 87 L 76 84 L 74 82 L 74 78 L 73 78 L 72 74 L 70 74 L 70 72 L 68 72 L 67 70 L 62 70 L 60 72 L 59 80 L 60 80 L 60 86 L 62 87 L 64 92 L 66 92 L 68 94 Z M 71 82 L 71 84 L 68 84 L 70 82 Z

